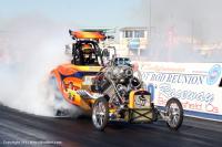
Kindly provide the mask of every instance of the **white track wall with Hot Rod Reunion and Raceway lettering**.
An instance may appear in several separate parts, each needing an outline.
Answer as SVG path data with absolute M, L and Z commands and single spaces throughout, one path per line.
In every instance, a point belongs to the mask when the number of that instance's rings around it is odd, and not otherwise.
M 140 62 L 152 101 L 181 101 L 185 115 L 222 122 L 222 63 Z

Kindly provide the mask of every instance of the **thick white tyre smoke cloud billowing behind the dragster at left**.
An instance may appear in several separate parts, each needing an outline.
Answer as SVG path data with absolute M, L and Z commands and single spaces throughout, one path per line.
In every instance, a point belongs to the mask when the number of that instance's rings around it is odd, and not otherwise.
M 42 15 L 26 15 L 8 21 L 0 30 L 0 103 L 52 116 L 47 80 L 53 67 L 70 62 L 64 55 L 64 44 L 71 41 L 68 28 Z

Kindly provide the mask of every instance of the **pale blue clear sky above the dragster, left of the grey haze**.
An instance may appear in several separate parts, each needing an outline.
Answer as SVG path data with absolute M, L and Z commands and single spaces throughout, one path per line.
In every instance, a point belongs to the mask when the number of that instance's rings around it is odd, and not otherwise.
M 42 15 L 85 27 L 143 25 L 132 21 L 141 0 L 0 0 L 0 20 Z

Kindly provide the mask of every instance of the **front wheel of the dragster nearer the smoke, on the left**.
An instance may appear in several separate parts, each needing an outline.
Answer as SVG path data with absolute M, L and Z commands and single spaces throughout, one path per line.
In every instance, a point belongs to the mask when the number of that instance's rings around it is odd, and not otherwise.
M 92 107 L 92 123 L 98 130 L 104 130 L 109 117 L 108 102 L 104 97 L 100 97 L 94 102 Z

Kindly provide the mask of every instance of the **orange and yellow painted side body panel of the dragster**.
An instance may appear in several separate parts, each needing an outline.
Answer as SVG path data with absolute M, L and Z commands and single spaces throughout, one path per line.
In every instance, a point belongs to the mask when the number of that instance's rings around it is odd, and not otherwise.
M 54 69 L 51 72 L 51 76 L 56 77 L 57 86 L 65 101 L 83 109 L 90 109 L 90 105 L 94 103 L 94 99 L 82 98 L 75 91 L 83 87 L 84 75 L 82 73 L 97 73 L 100 69 L 101 66 L 63 64 Z M 72 92 L 72 96 L 70 96 L 70 91 Z

